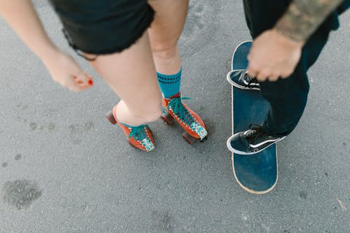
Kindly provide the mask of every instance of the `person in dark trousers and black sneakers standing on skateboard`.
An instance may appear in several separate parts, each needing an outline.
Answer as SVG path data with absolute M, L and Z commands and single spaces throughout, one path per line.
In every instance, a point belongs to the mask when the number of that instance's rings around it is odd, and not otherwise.
M 244 0 L 246 23 L 253 37 L 247 73 L 236 87 L 260 89 L 270 103 L 262 125 L 252 125 L 228 140 L 233 153 L 260 152 L 290 134 L 307 103 L 307 70 L 339 27 L 338 15 L 349 0 Z M 244 71 L 243 71 L 244 72 Z M 258 87 L 258 88 L 257 88 Z

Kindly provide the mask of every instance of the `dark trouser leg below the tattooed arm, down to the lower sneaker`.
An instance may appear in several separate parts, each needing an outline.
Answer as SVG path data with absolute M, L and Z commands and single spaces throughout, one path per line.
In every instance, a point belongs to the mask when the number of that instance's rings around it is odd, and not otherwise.
M 262 96 L 271 104 L 262 125 L 267 134 L 286 136 L 296 127 L 307 104 L 309 93 L 307 71 L 320 55 L 328 40 L 329 32 L 330 29 L 320 28 L 309 38 L 302 49 L 300 62 L 289 78 L 260 83 Z

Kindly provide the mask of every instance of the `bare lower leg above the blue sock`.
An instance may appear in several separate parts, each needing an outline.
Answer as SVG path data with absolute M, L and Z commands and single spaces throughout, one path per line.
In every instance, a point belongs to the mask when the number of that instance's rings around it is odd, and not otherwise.
M 188 0 L 161 0 L 148 3 L 155 10 L 155 20 L 148 29 L 155 67 L 160 73 L 177 73 L 181 69 L 177 41 L 185 24 Z

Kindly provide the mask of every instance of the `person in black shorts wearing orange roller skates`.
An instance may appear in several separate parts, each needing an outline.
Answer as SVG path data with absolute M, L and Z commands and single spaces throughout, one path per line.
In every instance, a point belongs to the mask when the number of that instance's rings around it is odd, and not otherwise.
M 146 151 L 155 148 L 146 123 L 160 118 L 162 105 L 190 136 L 207 136 L 204 122 L 180 97 L 177 41 L 188 0 L 50 2 L 69 45 L 120 97 L 109 120 L 118 122 L 132 146 Z M 92 87 L 92 77 L 45 34 L 30 0 L 0 0 L 0 15 L 42 60 L 53 80 L 74 92 Z

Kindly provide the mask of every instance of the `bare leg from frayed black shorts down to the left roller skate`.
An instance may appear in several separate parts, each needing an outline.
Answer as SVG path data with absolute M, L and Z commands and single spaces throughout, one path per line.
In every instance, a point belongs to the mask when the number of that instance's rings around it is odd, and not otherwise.
M 123 52 L 99 56 L 90 64 L 122 99 L 117 108 L 120 122 L 136 126 L 160 117 L 162 94 L 147 32 Z

